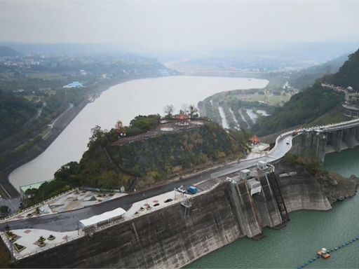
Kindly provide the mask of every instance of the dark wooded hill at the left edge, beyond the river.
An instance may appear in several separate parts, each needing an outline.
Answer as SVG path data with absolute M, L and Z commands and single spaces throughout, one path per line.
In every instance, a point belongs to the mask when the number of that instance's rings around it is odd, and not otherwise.
M 35 114 L 34 104 L 0 90 L 0 141 L 20 131 Z

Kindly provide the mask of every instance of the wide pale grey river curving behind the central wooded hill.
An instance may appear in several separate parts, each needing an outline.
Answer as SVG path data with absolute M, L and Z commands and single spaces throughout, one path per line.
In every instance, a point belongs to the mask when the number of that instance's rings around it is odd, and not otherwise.
M 217 92 L 264 88 L 268 81 L 255 78 L 221 78 L 205 76 L 168 76 L 128 81 L 114 85 L 72 120 L 48 149 L 34 160 L 11 172 L 15 188 L 45 181 L 61 165 L 79 161 L 88 144 L 91 128 L 110 129 L 117 120 L 127 125 L 137 115 L 163 114 L 167 104 L 179 111 L 182 104 L 197 104 Z

